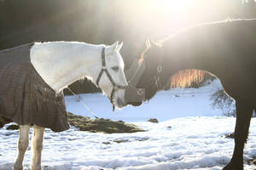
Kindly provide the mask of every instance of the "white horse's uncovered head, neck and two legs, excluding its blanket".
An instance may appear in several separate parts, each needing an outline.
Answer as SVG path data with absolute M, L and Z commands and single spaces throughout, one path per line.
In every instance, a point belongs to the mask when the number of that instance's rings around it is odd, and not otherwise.
M 125 106 L 127 82 L 124 62 L 119 54 L 123 43 L 111 46 L 84 42 L 36 42 L 30 51 L 32 65 L 50 88 L 59 93 L 67 85 L 88 77 L 119 108 Z M 105 74 L 104 74 L 105 72 Z M 31 125 L 20 125 L 18 156 L 14 169 L 23 169 L 23 159 L 29 143 Z M 33 125 L 31 170 L 41 170 L 44 127 Z

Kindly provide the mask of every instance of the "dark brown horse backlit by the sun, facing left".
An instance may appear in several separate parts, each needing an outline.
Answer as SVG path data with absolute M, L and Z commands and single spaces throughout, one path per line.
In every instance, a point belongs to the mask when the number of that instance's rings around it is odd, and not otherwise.
M 145 69 L 137 82 L 137 88 L 145 89 L 144 100 L 177 71 L 198 69 L 218 77 L 236 100 L 235 150 L 224 170 L 242 170 L 243 148 L 256 109 L 256 20 L 190 26 L 151 46 L 143 54 Z

